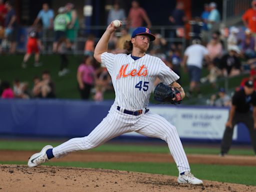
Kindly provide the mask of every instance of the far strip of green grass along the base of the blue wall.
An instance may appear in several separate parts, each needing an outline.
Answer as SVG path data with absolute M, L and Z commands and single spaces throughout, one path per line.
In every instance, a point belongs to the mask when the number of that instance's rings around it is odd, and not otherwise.
M 0 149 L 8 150 L 40 150 L 44 145 L 51 144 L 57 146 L 61 142 L 57 141 L 25 141 L 25 140 L 0 140 Z M 143 145 L 143 144 L 112 144 L 107 143 L 98 146 L 92 151 L 99 152 L 152 152 L 152 153 L 168 153 L 169 149 L 166 145 Z M 187 154 L 218 154 L 218 147 L 195 147 L 185 146 L 184 150 Z M 231 148 L 229 154 L 235 155 L 253 155 L 250 148 Z

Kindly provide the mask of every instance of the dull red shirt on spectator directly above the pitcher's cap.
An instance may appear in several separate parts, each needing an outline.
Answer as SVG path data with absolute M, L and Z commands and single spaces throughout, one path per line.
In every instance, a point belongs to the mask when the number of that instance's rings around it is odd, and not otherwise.
M 143 25 L 143 18 L 146 16 L 146 12 L 143 8 L 130 8 L 128 17 L 130 18 L 131 27 L 138 27 Z

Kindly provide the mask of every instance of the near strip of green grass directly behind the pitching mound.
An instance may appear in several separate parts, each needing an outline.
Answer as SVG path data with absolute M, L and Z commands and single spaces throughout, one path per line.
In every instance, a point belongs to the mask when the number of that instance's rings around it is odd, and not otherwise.
M 1 164 L 26 164 L 21 161 L 0 161 Z M 153 162 L 47 162 L 45 165 L 73 166 L 127 170 L 177 176 L 175 163 Z M 254 177 L 256 167 L 236 165 L 190 164 L 194 175 L 205 180 L 256 185 Z

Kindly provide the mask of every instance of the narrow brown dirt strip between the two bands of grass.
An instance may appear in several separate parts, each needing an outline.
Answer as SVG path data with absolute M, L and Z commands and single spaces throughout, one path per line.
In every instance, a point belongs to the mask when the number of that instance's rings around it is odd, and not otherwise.
M 38 151 L 0 150 L 0 160 L 27 161 L 28 157 Z M 190 163 L 201 164 L 233 164 L 256 166 L 255 156 L 226 155 L 220 157 L 213 154 L 187 154 Z M 102 160 L 103 159 L 103 160 Z M 51 161 L 81 161 L 81 162 L 174 162 L 170 154 L 146 152 L 73 152 L 69 155 L 52 159 Z

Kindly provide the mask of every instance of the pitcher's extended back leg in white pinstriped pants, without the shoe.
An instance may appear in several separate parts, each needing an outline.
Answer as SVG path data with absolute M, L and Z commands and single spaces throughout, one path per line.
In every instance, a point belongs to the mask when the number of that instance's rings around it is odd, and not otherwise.
M 69 152 L 87 150 L 103 144 L 107 140 L 122 133 L 128 132 L 129 127 L 118 120 L 107 115 L 87 136 L 71 138 L 70 140 L 54 147 L 52 153 L 55 157 L 61 157 Z

